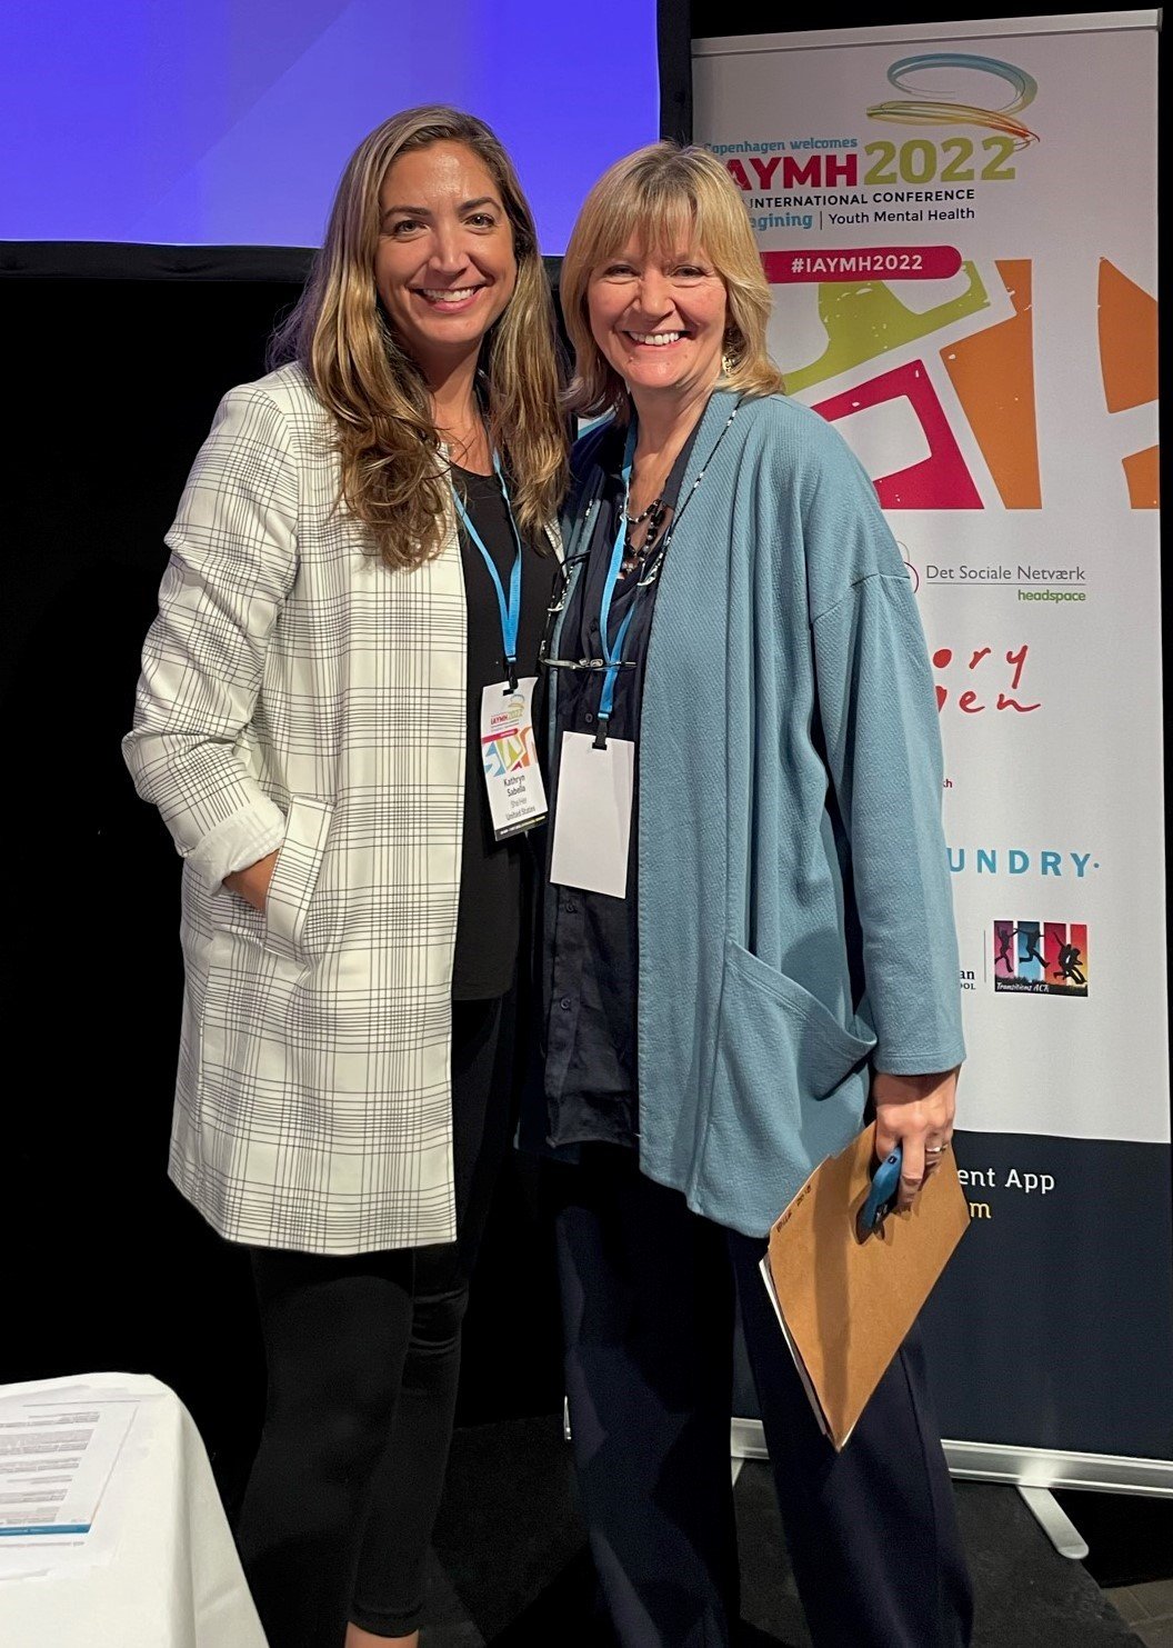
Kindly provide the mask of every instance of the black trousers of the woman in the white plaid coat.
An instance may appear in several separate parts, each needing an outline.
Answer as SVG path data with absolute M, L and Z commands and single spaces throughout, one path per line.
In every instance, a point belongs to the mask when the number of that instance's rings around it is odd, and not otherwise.
M 341 1648 L 348 1620 L 377 1636 L 418 1625 L 512 1055 L 512 995 L 453 1002 L 455 1243 L 252 1249 L 269 1398 L 237 1546 L 269 1648 Z

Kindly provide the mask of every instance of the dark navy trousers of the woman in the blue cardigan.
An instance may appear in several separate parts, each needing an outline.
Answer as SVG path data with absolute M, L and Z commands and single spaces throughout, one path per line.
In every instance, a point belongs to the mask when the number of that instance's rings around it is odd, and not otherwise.
M 735 1300 L 791 1566 L 819 1648 L 960 1648 L 972 1599 L 911 1337 L 847 1447 L 811 1412 L 751 1241 L 690 1213 L 634 1154 L 550 1162 L 575 1465 L 623 1648 L 736 1641 Z

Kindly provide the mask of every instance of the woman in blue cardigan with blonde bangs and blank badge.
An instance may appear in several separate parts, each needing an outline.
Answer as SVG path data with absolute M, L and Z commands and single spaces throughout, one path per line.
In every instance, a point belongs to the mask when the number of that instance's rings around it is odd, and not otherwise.
M 937 710 L 913 592 L 842 437 L 784 399 L 741 198 L 657 143 L 562 267 L 573 410 L 544 1107 L 583 1510 L 623 1648 L 736 1641 L 735 1299 L 792 1567 L 829 1648 L 969 1641 L 921 1351 L 819 1432 L 758 1262 L 868 1121 L 909 1205 L 964 1056 Z M 652 623 L 654 615 L 654 623 Z

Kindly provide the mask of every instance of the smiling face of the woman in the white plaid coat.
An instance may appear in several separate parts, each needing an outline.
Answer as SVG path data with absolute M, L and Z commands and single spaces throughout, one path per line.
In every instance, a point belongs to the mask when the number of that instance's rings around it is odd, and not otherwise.
M 395 336 L 435 384 L 476 358 L 517 283 L 512 226 L 463 143 L 400 155 L 379 191 L 374 279 Z

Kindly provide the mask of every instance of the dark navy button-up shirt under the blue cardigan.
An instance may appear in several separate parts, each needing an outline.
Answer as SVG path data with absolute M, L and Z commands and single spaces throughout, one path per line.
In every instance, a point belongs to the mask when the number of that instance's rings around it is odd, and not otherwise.
M 624 430 L 610 430 L 596 461 L 606 471 L 590 552 L 567 603 L 558 641 L 562 658 L 601 658 L 600 605 L 611 564 L 611 549 L 623 511 Z M 689 437 L 664 486 L 669 509 L 684 481 L 695 432 Z M 666 526 L 671 531 L 671 516 Z M 662 541 L 662 539 L 661 539 Z M 672 550 L 669 549 L 669 554 Z M 656 562 L 652 549 L 649 564 Z M 639 707 L 644 666 L 659 580 L 638 588 L 641 570 L 619 578 L 611 597 L 610 633 L 618 633 L 636 602 L 623 656 L 633 661 L 615 684 L 608 722 L 610 738 L 636 745 L 628 892 L 624 898 L 580 888 L 545 888 L 545 1106 L 547 1145 L 586 1142 L 634 1144 L 636 1098 L 636 995 L 639 948 L 636 938 L 636 870 L 639 829 Z M 558 714 L 550 751 L 550 816 L 557 808 L 557 765 L 563 732 L 595 733 L 603 692 L 601 669 L 558 671 Z M 552 837 L 552 832 L 550 832 Z

